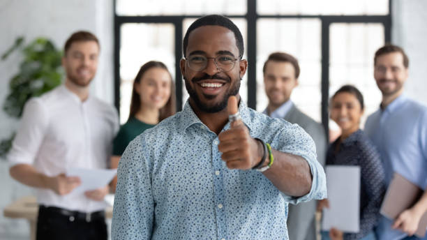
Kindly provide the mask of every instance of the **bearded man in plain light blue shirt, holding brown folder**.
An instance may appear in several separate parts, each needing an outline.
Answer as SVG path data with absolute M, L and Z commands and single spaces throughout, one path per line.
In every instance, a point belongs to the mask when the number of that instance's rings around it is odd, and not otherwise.
M 401 47 L 389 44 L 375 52 L 374 78 L 382 101 L 380 109 L 366 120 L 366 133 L 380 150 L 387 186 L 398 172 L 424 190 L 396 220 L 381 218 L 377 234 L 384 240 L 419 239 L 412 234 L 427 211 L 427 107 L 403 94 L 408 67 L 409 59 Z

